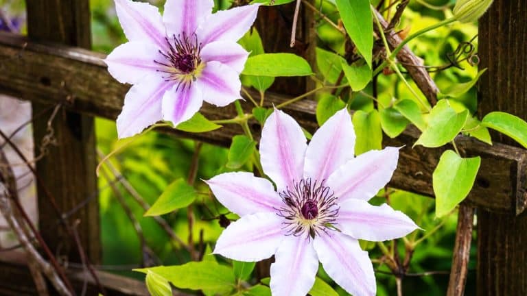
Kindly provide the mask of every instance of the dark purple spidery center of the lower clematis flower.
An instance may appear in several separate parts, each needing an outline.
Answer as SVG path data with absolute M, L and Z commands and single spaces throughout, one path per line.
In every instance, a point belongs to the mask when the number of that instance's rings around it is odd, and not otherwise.
M 277 209 L 288 234 L 307 238 L 329 230 L 335 230 L 333 225 L 338 217 L 338 197 L 335 197 L 324 182 L 303 179 L 294 183 L 293 188 L 285 188 L 279 193 L 284 206 Z

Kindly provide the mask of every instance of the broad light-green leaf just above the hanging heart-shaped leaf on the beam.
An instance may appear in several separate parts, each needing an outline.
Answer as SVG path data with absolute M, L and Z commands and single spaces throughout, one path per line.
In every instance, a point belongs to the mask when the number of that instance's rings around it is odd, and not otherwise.
M 441 147 L 459 134 L 467 118 L 469 117 L 469 110 L 463 110 L 460 113 L 449 106 L 447 99 L 438 101 L 434 106 L 428 118 L 428 127 L 423 131 L 423 134 L 417 139 L 415 145 L 423 145 L 424 147 L 435 148 Z

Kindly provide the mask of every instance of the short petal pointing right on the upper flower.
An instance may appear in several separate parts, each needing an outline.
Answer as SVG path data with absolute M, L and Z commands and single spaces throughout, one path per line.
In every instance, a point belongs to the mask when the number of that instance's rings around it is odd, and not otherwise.
M 204 62 L 221 62 L 242 73 L 249 53 L 235 42 L 216 41 L 211 42 L 201 50 L 201 58 Z

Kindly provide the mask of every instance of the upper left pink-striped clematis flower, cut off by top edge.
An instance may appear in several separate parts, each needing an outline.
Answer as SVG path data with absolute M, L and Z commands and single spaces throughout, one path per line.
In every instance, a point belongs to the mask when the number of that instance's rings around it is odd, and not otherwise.
M 259 5 L 212 14 L 213 0 L 167 0 L 163 16 L 148 3 L 115 0 L 128 42 L 106 58 L 108 71 L 133 84 L 117 118 L 119 138 L 160 120 L 178 125 L 206 101 L 239 99 L 248 57 L 236 42 L 253 25 Z

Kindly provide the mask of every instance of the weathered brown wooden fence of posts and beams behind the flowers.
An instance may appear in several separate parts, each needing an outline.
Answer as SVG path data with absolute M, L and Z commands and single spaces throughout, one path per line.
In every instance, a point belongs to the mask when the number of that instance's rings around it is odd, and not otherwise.
M 489 71 L 479 83 L 480 114 L 493 110 L 510 112 L 527 119 L 527 6 L 522 0 L 495 0 L 491 10 L 480 20 L 480 66 Z M 281 8 L 290 10 L 291 7 Z M 267 51 L 290 51 L 290 27 L 276 8 L 262 8 L 257 20 Z M 314 61 L 314 16 L 302 12 L 294 51 Z M 0 34 L 0 93 L 32 101 L 34 114 L 51 112 L 49 106 L 60 104 L 53 129 L 58 145 L 49 149 L 36 164 L 38 173 L 38 212 L 40 233 L 51 250 L 71 262 L 81 262 L 68 227 L 79 220 L 78 234 L 84 253 L 92 263 L 100 262 L 99 206 L 95 176 L 95 133 L 93 116 L 115 119 L 123 105 L 129 86 L 110 77 L 102 62 L 104 56 L 89 51 L 91 47 L 89 0 L 27 0 L 28 37 Z M 268 101 L 279 103 L 292 95 L 312 88 L 306 79 L 279 79 Z M 244 106 L 249 112 L 250 106 Z M 285 110 L 294 115 L 307 130 L 316 128 L 316 103 L 304 100 Z M 209 119 L 235 116 L 233 108 L 204 106 Z M 36 145 L 47 133 L 49 114 L 34 120 Z M 252 125 L 258 134 L 258 125 Z M 174 131 L 172 131 L 174 132 Z M 229 145 L 235 126 L 204 134 L 174 132 L 217 145 Z M 419 136 L 414 127 L 396 139 L 385 138 L 384 145 L 403 146 L 399 167 L 390 186 L 433 196 L 432 172 L 445 148 L 424 149 L 412 144 Z M 481 156 L 482 163 L 467 201 L 462 205 L 452 281 L 463 281 L 471 241 L 473 209 L 478 217 L 478 295 L 527 295 L 527 152 L 508 138 L 492 147 L 472 138 L 459 136 L 458 147 L 467 156 Z M 38 151 L 38 147 L 36 147 Z M 87 197 L 91 197 L 87 199 Z M 86 202 L 88 201 L 88 202 Z M 79 205 L 82 205 L 79 207 Z M 75 211 L 72 211 L 75 210 Z M 61 217 L 62 213 L 69 213 Z M 62 220 L 61 220 L 62 219 Z M 59 224 L 58 224 L 59 223 Z M 468 247 L 467 247 L 468 246 Z M 100 284 L 111 295 L 146 295 L 141 282 L 97 272 Z M 69 272 L 74 285 L 89 281 L 90 275 Z M 30 272 L 21 266 L 0 263 L 2 295 L 34 295 Z M 462 286 L 462 284 L 461 284 Z M 462 295 L 450 291 L 449 295 Z

